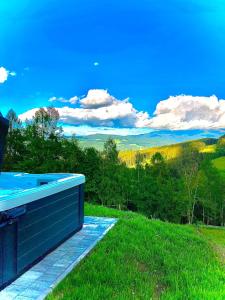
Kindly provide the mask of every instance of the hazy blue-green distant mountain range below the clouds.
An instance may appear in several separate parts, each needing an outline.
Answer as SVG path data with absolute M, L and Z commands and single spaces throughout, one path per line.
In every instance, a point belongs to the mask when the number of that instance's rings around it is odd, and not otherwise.
M 108 138 L 113 138 L 119 150 L 139 150 L 149 147 L 171 145 L 185 141 L 198 140 L 201 138 L 218 138 L 225 134 L 225 130 L 158 130 L 140 135 L 107 135 L 93 134 L 77 137 L 83 147 L 95 147 L 103 149 Z

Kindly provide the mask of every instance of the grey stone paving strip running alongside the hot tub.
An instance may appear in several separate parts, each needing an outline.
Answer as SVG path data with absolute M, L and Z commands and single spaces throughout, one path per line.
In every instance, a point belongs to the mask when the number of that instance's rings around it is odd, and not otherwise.
M 42 300 L 117 222 L 85 217 L 84 227 L 0 292 L 1 300 Z

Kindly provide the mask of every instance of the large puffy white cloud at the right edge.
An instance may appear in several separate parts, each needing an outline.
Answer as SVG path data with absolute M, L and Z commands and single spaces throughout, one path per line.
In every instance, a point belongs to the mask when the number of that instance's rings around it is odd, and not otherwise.
M 225 100 L 216 96 L 171 96 L 157 104 L 154 115 L 148 127 L 171 130 L 225 128 Z

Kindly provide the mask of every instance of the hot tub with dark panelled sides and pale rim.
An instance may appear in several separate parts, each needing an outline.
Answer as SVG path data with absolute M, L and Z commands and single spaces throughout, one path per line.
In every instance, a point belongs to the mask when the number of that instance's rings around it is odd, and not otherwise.
M 84 182 L 79 174 L 1 173 L 0 289 L 82 228 Z

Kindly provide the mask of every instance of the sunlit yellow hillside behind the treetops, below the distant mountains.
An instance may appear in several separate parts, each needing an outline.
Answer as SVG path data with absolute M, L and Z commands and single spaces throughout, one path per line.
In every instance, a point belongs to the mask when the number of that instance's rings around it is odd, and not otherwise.
M 166 159 L 173 159 L 179 156 L 183 147 L 187 144 L 194 146 L 200 152 L 213 153 L 215 151 L 216 142 L 217 139 L 205 138 L 168 146 L 146 148 L 142 150 L 124 150 L 120 151 L 119 157 L 128 166 L 134 166 L 137 153 L 141 153 L 143 155 L 144 163 L 150 163 L 151 157 L 154 153 L 160 152 Z

